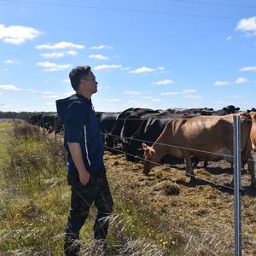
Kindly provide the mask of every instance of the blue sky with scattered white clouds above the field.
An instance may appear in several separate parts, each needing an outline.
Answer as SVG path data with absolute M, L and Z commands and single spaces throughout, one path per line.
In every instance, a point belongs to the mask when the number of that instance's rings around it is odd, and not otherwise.
M 21 2 L 0 1 L 0 111 L 55 111 L 78 65 L 97 111 L 256 107 L 254 1 Z

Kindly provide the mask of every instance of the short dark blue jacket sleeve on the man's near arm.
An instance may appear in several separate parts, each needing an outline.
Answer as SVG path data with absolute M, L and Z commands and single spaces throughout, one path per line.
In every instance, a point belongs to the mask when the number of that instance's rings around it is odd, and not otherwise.
M 72 102 L 67 108 L 65 132 L 67 143 L 79 143 L 84 137 L 85 110 L 81 102 Z

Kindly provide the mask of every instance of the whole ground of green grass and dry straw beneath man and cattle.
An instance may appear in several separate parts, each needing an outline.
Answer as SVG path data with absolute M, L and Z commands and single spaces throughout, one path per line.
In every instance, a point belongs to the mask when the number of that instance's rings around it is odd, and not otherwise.
M 62 255 L 70 189 L 61 139 L 55 143 L 30 125 L 2 122 L 0 154 L 0 254 Z M 145 177 L 143 164 L 124 154 L 107 152 L 104 159 L 114 200 L 106 255 L 234 254 L 231 189 L 200 179 L 192 185 L 183 165 L 158 166 Z M 224 162 L 209 170 L 195 174 L 230 182 Z M 247 188 L 242 196 L 243 255 L 256 255 L 255 194 Z M 94 211 L 81 231 L 81 255 L 91 254 Z

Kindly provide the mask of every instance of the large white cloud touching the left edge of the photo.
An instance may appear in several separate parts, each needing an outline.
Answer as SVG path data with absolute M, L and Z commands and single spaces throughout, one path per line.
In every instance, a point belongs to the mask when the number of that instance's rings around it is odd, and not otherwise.
M 28 26 L 4 26 L 0 24 L 0 40 L 8 44 L 24 44 L 37 38 L 41 32 Z

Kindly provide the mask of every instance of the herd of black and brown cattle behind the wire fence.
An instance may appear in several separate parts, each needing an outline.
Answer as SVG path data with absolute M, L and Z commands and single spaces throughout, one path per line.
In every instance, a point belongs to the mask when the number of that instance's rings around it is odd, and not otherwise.
M 128 108 L 120 113 L 96 112 L 107 149 L 118 144 L 127 160 L 144 158 L 143 172 L 166 158 L 175 164 L 185 160 L 186 173 L 195 177 L 193 167 L 200 160 L 227 160 L 233 164 L 233 116 L 241 117 L 241 164 L 247 163 L 255 185 L 252 149 L 256 149 L 256 109 L 241 112 L 228 106 L 212 108 L 166 109 Z M 49 132 L 63 132 L 57 115 L 34 115 L 30 122 Z

